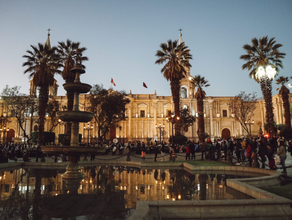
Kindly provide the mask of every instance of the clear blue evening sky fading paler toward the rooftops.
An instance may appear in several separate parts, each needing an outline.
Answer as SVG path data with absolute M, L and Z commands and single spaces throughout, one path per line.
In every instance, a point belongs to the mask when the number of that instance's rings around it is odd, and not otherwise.
M 0 0 L 0 92 L 17 85 L 29 93 L 22 55 L 30 45 L 45 43 L 50 28 L 52 46 L 69 38 L 88 48 L 81 82 L 109 88 L 113 78 L 115 90 L 170 96 L 155 53 L 161 42 L 179 39 L 181 28 L 193 55 L 191 75 L 201 74 L 211 84 L 207 96 L 255 91 L 259 98 L 260 85 L 241 69 L 242 46 L 253 37 L 275 37 L 286 53 L 279 76 L 292 76 L 291 22 L 292 1 Z M 58 95 L 64 95 L 63 79 L 55 79 Z M 277 87 L 273 81 L 273 95 Z

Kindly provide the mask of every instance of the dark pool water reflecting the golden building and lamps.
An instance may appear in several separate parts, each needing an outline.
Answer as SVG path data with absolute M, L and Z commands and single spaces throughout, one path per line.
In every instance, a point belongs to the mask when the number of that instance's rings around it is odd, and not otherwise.
M 246 178 L 127 166 L 91 166 L 81 171 L 86 177 L 73 195 L 61 179 L 65 170 L 0 171 L 1 219 L 126 219 L 138 200 L 238 199 L 226 192 L 226 179 Z

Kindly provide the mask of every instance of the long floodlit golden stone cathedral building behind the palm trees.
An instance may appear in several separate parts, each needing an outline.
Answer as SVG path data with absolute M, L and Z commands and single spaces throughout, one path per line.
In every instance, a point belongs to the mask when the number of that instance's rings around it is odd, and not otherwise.
M 182 42 L 181 36 L 180 42 Z M 193 75 L 195 74 L 196 73 Z M 194 96 L 196 88 L 194 88 L 193 84 L 190 83 L 191 77 L 192 76 L 188 71 L 187 75 L 185 75 L 181 80 L 181 107 L 190 108 L 192 115 L 196 115 L 198 112 L 197 102 Z M 66 96 L 58 96 L 57 90 L 58 82 L 55 81 L 54 85 L 49 88 L 50 98 L 58 100 L 60 102 L 60 106 L 67 105 Z M 33 85 L 32 81 L 30 81 L 30 94 L 37 95 L 37 88 Z M 261 94 L 258 95 L 261 96 Z M 87 96 L 88 95 L 79 96 L 79 105 L 81 110 L 84 110 L 85 98 Z M 290 94 L 290 97 L 291 96 L 292 95 Z M 161 124 L 165 124 L 166 126 L 166 137 L 171 135 L 171 125 L 170 123 L 166 123 L 165 119 L 165 117 L 169 116 L 173 111 L 171 96 L 160 96 L 156 94 L 156 91 L 154 91 L 153 94 L 132 94 L 130 91 L 128 98 L 131 100 L 131 103 L 127 105 L 127 120 L 120 123 L 121 130 L 115 127 L 110 127 L 108 138 L 118 138 L 125 142 L 128 139 L 140 139 L 141 141 L 146 142 L 146 137 L 152 137 L 152 140 L 159 140 L 159 131 L 155 129 L 155 124 L 159 124 L 159 122 L 161 122 Z M 211 138 L 240 137 L 247 134 L 239 122 L 232 117 L 232 112 L 230 112 L 228 105 L 230 98 L 232 97 L 207 96 L 204 100 L 205 131 L 210 135 Z M 277 124 L 284 123 L 284 108 L 282 105 L 281 96 L 274 95 L 272 100 L 274 120 L 277 122 Z M 8 113 L 8 115 L 11 116 L 11 114 L 6 111 L 4 106 L 0 105 L 0 116 L 4 113 Z M 257 102 L 257 109 L 255 113 L 255 116 L 251 119 L 255 121 L 255 124 L 251 126 L 251 133 L 253 136 L 258 135 L 260 127 L 262 129 L 264 128 L 265 107 L 263 100 Z M 87 141 L 87 132 L 84 132 L 83 129 L 86 124 L 87 123 L 84 123 L 82 125 L 81 123 L 79 128 L 79 133 L 82 134 L 84 142 Z M 97 137 L 97 124 L 92 121 L 91 125 L 93 125 L 93 131 L 89 132 L 89 138 L 91 141 L 93 141 Z M 13 120 L 13 117 L 12 122 L 6 126 L 10 129 L 7 133 L 7 141 L 24 141 L 23 132 L 20 130 L 18 123 Z M 29 130 L 30 125 L 28 119 L 24 122 L 23 126 Z M 47 120 L 45 130 L 48 131 L 50 127 L 51 121 Z M 32 128 L 32 131 L 36 131 L 37 124 L 34 123 Z M 189 139 L 197 140 L 197 128 L 198 125 L 197 122 L 195 122 L 194 125 L 187 129 L 185 136 L 187 136 Z M 57 141 L 58 134 L 64 133 L 64 126 L 57 126 L 53 132 L 56 133 Z M 3 137 L 3 133 L 1 135 Z

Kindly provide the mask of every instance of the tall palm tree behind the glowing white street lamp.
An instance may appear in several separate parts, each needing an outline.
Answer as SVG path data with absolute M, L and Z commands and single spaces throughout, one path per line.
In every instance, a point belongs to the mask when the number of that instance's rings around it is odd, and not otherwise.
M 277 44 L 275 37 L 268 36 L 251 39 L 251 45 L 243 45 L 247 54 L 241 55 L 240 59 L 247 61 L 242 69 L 250 71 L 249 77 L 260 83 L 262 94 L 265 100 L 268 133 L 274 133 L 274 118 L 272 110 L 272 80 L 278 74 L 278 68 L 283 68 L 282 61 L 285 53 L 279 52 L 282 44 Z

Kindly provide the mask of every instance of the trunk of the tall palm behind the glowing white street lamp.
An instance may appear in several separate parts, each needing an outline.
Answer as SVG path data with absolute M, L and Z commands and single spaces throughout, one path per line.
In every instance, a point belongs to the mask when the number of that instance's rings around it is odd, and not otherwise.
M 266 86 L 267 85 L 267 86 Z M 267 131 L 270 135 L 274 135 L 274 115 L 273 115 L 273 103 L 272 103 L 272 81 L 269 78 L 262 77 L 260 79 L 260 88 L 262 90 L 262 94 L 265 100 L 265 108 L 266 108 L 266 118 L 268 123 Z

